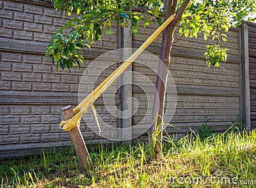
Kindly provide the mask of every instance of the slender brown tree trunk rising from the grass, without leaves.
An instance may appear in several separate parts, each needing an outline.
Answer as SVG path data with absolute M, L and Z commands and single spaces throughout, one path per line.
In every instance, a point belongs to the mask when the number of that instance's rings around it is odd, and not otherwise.
M 162 45 L 158 62 L 158 71 L 156 79 L 156 90 L 154 95 L 152 126 L 149 130 L 150 142 L 154 144 L 155 157 L 162 154 L 163 137 L 163 115 L 164 101 L 166 94 L 166 81 L 168 77 L 168 67 L 170 64 L 170 52 L 172 48 L 173 33 L 180 18 L 186 10 L 190 0 L 184 0 L 179 8 L 173 22 L 163 31 Z M 177 0 L 164 0 L 165 19 L 177 11 Z

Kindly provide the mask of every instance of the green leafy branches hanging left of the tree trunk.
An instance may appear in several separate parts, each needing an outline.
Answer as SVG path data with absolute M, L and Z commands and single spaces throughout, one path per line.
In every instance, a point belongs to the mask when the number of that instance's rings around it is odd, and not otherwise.
M 84 61 L 79 50 L 88 47 L 94 41 L 101 40 L 102 32 L 112 34 L 110 25 L 118 19 L 120 27 L 131 27 L 131 32 L 137 34 L 138 23 L 149 15 L 144 25 L 151 20 L 163 21 L 159 17 L 163 11 L 161 1 L 59 1 L 54 0 L 55 10 L 61 10 L 61 15 L 71 15 L 76 12 L 78 17 L 68 21 L 58 33 L 52 37 L 52 44 L 47 47 L 46 56 L 51 57 L 56 68 L 60 66 L 65 70 L 79 66 Z M 143 8 L 138 8 L 143 7 Z M 131 20 L 132 25 L 129 25 Z M 69 34 L 63 36 L 61 31 L 70 29 Z

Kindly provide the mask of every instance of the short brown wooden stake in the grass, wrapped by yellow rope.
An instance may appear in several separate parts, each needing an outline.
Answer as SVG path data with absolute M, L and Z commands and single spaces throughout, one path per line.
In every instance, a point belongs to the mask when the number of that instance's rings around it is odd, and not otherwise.
M 74 116 L 72 106 L 70 105 L 64 108 L 60 108 L 60 110 L 64 120 L 71 119 Z M 86 167 L 92 168 L 92 161 L 84 143 L 83 135 L 80 131 L 79 126 L 74 127 L 73 129 L 68 131 L 68 133 L 70 134 L 70 138 L 72 140 L 77 157 L 83 170 L 86 170 Z

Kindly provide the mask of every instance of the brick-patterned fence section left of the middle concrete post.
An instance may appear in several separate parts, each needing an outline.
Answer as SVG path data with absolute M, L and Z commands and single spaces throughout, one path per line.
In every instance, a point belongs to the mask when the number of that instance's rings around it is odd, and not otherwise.
M 40 150 L 49 143 L 69 143 L 70 136 L 58 126 L 62 120 L 59 108 L 77 105 L 79 82 L 86 66 L 57 72 L 49 58 L 44 58 L 49 40 L 65 23 L 67 19 L 47 3 L 0 1 L 0 156 L 28 154 L 23 149 Z M 112 31 L 114 34 L 103 36 L 90 53 L 84 52 L 86 64 L 117 48 L 116 23 Z M 100 66 L 105 68 L 104 64 Z M 114 69 L 116 66 L 109 68 L 102 78 Z M 97 76 L 94 74 L 88 73 L 92 84 Z M 116 117 L 109 115 L 102 98 L 95 102 L 95 108 L 104 122 L 117 126 Z M 94 120 L 91 112 L 86 115 Z M 83 121 L 81 131 L 85 139 L 100 139 Z M 17 148 L 19 152 L 12 152 Z

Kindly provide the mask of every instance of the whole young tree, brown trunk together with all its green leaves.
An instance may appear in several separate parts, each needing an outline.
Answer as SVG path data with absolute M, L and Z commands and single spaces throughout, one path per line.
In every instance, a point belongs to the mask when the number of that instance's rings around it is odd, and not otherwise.
M 163 66 L 170 64 L 170 52 L 173 43 L 173 33 L 177 24 L 182 28 L 180 36 L 197 37 L 198 33 L 204 34 L 204 39 L 212 37 L 216 45 L 206 48 L 205 57 L 207 66 L 218 67 L 220 62 L 227 59 L 227 49 L 219 45 L 219 41 L 227 41 L 225 32 L 231 25 L 241 24 L 242 20 L 255 20 L 256 0 L 51 0 L 55 10 L 70 16 L 72 12 L 79 15 L 72 18 L 64 25 L 56 35 L 52 37 L 52 44 L 47 47 L 46 56 L 51 57 L 56 69 L 74 66 L 80 68 L 84 58 L 77 50 L 88 47 L 93 41 L 99 41 L 102 32 L 111 34 L 110 25 L 118 19 L 120 27 L 130 27 L 132 34 L 137 34 L 138 23 L 144 26 L 157 20 L 159 25 L 163 18 L 176 14 L 174 20 L 163 31 L 163 39 L 160 50 L 160 59 L 156 78 L 156 92 L 152 117 L 158 117 L 150 128 L 150 138 L 154 137 L 156 127 L 159 126 L 159 134 L 156 138 L 155 152 L 161 154 L 162 141 L 162 117 L 164 113 L 164 96 L 166 91 L 166 78 L 168 71 Z M 254 17 L 254 18 L 253 18 Z M 63 29 L 70 29 L 66 36 L 61 34 Z M 157 126 L 156 126 L 157 125 Z

